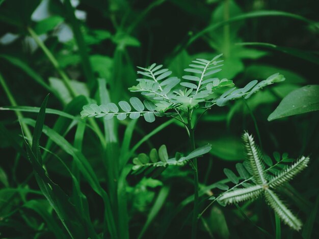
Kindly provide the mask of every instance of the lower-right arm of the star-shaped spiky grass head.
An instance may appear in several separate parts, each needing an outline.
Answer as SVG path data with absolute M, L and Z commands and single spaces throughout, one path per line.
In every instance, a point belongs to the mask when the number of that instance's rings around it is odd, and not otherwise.
M 302 222 L 295 217 L 293 213 L 291 213 L 287 206 L 272 190 L 266 189 L 264 195 L 268 204 L 273 208 L 273 210 L 278 214 L 285 224 L 297 231 L 301 229 Z

